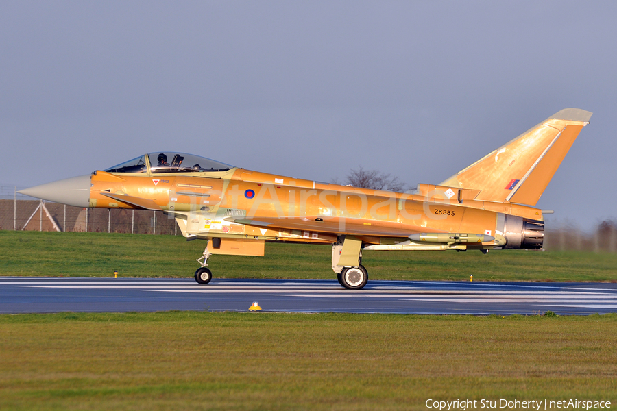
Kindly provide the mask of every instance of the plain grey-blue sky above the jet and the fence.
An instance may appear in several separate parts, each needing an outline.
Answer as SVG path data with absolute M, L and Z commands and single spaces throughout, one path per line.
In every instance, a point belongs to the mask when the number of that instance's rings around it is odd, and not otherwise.
M 547 218 L 617 217 L 617 3 L 2 1 L 2 186 L 153 151 L 330 182 L 438 184 L 563 108 L 594 112 Z

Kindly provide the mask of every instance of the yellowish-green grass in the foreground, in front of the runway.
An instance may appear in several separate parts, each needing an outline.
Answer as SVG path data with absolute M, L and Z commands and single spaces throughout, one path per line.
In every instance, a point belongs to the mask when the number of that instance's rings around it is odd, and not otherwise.
M 617 401 L 617 315 L 0 316 L 1 410 L 409 410 Z

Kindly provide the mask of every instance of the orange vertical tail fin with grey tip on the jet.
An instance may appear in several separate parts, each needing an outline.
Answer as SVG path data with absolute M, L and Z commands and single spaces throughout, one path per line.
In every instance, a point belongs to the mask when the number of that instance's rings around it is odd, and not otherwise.
M 439 185 L 481 190 L 480 201 L 535 206 L 591 116 L 561 110 Z

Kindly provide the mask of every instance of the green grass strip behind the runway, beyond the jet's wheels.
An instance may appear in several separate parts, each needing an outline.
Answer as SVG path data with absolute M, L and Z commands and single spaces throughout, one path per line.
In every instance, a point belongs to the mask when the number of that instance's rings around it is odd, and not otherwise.
M 191 277 L 204 241 L 145 234 L 0 231 L 0 275 Z M 264 257 L 213 256 L 218 278 L 333 279 L 330 247 L 266 244 Z M 617 281 L 617 255 L 585 251 L 364 251 L 370 279 Z

